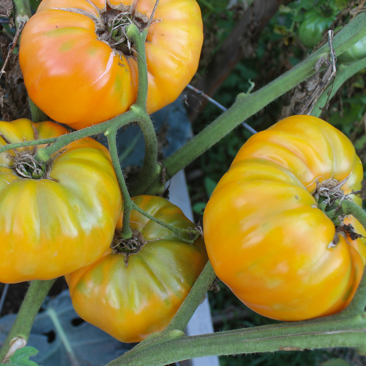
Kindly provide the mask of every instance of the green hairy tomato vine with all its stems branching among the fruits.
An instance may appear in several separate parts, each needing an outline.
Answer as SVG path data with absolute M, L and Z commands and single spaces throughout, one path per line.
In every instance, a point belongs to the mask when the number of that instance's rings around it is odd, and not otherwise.
M 30 16 L 29 1 L 14 0 L 14 3 L 16 5 L 16 15 Z M 130 198 L 119 164 L 116 133 L 120 127 L 131 122 L 138 122 L 145 137 L 145 160 L 141 172 L 130 190 L 131 193 L 133 195 L 137 193 L 161 193 L 164 189 L 164 184 L 160 179 L 161 166 L 157 164 L 156 134 L 145 107 L 147 98 L 147 72 L 144 43 L 147 30 L 145 28 L 143 32 L 139 32 L 137 27 L 131 25 L 127 27 L 126 33 L 134 41 L 137 48 L 139 71 L 137 102 L 132 105 L 129 111 L 106 122 L 74 131 L 58 138 L 5 145 L 0 147 L 0 153 L 21 146 L 50 144 L 39 149 L 36 156 L 38 161 L 47 161 L 53 153 L 67 146 L 72 141 L 97 133 L 104 133 L 108 139 L 112 163 L 124 198 L 122 237 L 129 238 L 132 234 L 128 225 L 129 215 L 131 210 L 138 208 Z M 366 12 L 363 12 L 351 20 L 334 37 L 333 47 L 336 54 L 339 55 L 344 52 L 365 35 Z M 190 142 L 163 161 L 163 165 L 167 169 L 167 175 L 169 177 L 175 175 L 175 173 L 218 142 L 243 120 L 254 115 L 277 97 L 313 75 L 315 73 L 314 65 L 317 60 L 320 57 L 326 57 L 328 54 L 328 46 L 324 45 L 312 53 L 306 60 L 265 87 L 249 95 L 239 94 L 236 102 L 227 112 L 223 113 L 223 115 L 202 130 Z M 330 96 L 332 96 L 344 80 L 365 66 L 366 60 L 362 59 L 350 66 L 341 67 L 337 72 L 333 86 L 329 86 L 318 100 L 315 106 L 317 108 L 314 108 L 314 115 L 319 113 L 319 107 L 325 105 L 326 99 L 329 97 L 327 95 L 328 91 L 330 91 Z M 30 105 L 34 122 L 39 122 L 45 118 L 45 115 L 32 102 L 30 102 Z M 336 201 L 335 205 L 337 206 L 339 203 Z M 364 226 L 366 225 L 365 212 L 360 208 L 355 209 L 350 201 L 344 200 L 341 202 L 341 210 L 344 214 L 352 214 Z M 146 214 L 142 210 L 139 210 L 139 212 Z M 172 231 L 174 232 L 174 229 Z M 175 234 L 180 236 L 179 230 L 176 230 Z M 197 232 L 193 232 L 193 234 L 198 235 Z M 126 352 L 126 354 L 110 362 L 108 365 L 136 365 L 137 363 L 143 365 L 166 365 L 167 363 L 188 358 L 209 355 L 273 352 L 276 350 L 303 350 L 305 348 L 320 347 L 356 347 L 359 352 L 366 353 L 366 319 L 364 313 L 366 303 L 365 273 L 354 299 L 341 313 L 302 322 L 273 324 L 201 336 L 184 336 L 183 330 L 185 326 L 203 296 L 205 296 L 215 276 L 212 266 L 208 263 L 168 327 L 161 333 L 153 333 L 131 351 Z M 53 281 L 32 281 L 18 313 L 18 317 L 1 347 L 0 359 L 3 359 L 5 354 L 7 354 L 10 341 L 13 338 L 28 338 L 34 317 L 49 288 L 51 288 Z M 284 344 L 285 346 L 283 346 Z

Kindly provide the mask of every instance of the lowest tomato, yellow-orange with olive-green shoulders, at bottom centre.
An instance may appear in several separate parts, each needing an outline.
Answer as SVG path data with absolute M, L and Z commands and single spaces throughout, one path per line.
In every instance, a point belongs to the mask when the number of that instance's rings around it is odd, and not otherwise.
M 169 225 L 194 227 L 164 198 L 143 195 L 133 200 Z M 116 247 L 65 277 L 76 313 L 122 342 L 139 342 L 168 325 L 208 258 L 202 239 L 187 244 L 137 211 L 130 217 L 133 237 L 118 240 L 122 217 L 112 245 Z

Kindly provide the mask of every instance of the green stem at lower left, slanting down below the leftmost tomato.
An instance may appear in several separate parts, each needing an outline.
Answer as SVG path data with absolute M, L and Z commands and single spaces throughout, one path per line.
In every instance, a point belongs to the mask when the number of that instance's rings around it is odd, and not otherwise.
M 36 318 L 42 302 L 54 282 L 55 280 L 31 281 L 27 294 L 25 295 L 25 298 L 22 302 L 22 306 L 20 306 L 18 315 L 16 316 L 15 322 L 5 339 L 3 346 L 0 349 L 0 362 L 7 354 L 12 339 L 22 338 L 26 341 L 28 340 L 34 318 Z

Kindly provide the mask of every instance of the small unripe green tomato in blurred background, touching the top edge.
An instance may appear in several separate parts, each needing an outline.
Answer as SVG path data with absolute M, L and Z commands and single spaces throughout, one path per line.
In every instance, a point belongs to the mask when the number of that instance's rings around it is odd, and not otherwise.
M 299 28 L 300 41 L 308 48 L 315 47 L 337 19 L 339 13 L 334 1 L 319 1 L 317 7 L 307 11 Z

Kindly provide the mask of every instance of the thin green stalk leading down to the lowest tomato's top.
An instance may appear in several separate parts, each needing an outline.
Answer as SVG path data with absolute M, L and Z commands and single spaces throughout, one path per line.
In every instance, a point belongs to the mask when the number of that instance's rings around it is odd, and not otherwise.
M 117 144 L 116 144 L 116 134 L 117 129 L 108 130 L 107 139 L 109 152 L 111 153 L 113 168 L 115 169 L 116 176 L 118 179 L 119 186 L 121 188 L 122 197 L 123 197 L 123 225 L 122 232 L 120 234 L 121 238 L 128 239 L 132 236 L 132 230 L 130 228 L 130 213 L 134 206 L 130 195 L 128 194 L 126 182 L 124 181 L 124 176 L 121 170 L 121 166 L 119 164 Z

